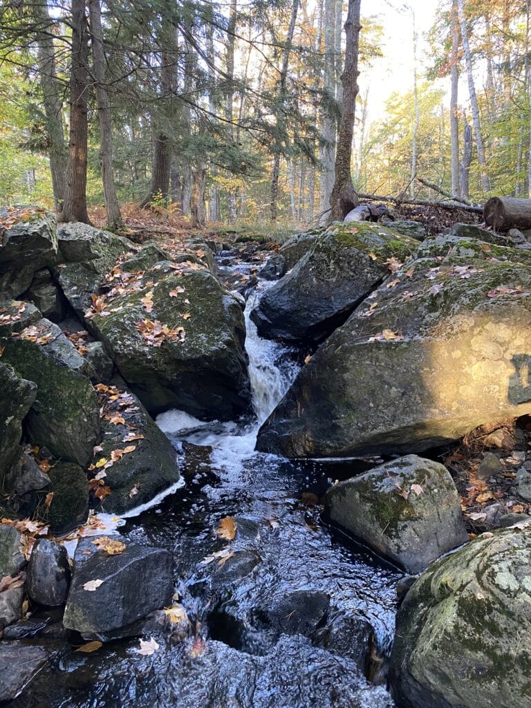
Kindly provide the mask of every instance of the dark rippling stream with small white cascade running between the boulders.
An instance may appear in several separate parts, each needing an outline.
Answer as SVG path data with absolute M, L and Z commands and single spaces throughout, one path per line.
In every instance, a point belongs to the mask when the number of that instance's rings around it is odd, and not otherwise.
M 13 708 L 393 706 L 385 664 L 403 574 L 329 527 L 318 503 L 333 481 L 370 465 L 254 452 L 298 370 L 297 352 L 259 338 L 249 321 L 263 287 L 246 304 L 255 415 L 159 416 L 182 453 L 185 485 L 120 527 L 130 542 L 171 551 L 188 625 L 147 622 L 142 636 L 159 644 L 151 656 L 137 653 L 138 638 L 86 654 L 60 642 Z M 227 516 L 234 540 L 215 534 Z

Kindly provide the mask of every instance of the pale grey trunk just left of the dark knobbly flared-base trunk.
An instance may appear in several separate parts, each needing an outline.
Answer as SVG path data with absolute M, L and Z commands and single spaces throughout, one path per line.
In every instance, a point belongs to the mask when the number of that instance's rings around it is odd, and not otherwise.
M 341 0 L 338 0 L 340 2 Z M 333 158 L 335 152 L 334 139 L 336 126 L 333 120 L 333 101 L 336 93 L 336 77 L 334 54 L 336 52 L 335 7 L 333 0 L 324 0 L 324 69 L 323 90 L 326 95 L 321 108 L 321 147 L 319 161 L 321 162 L 321 189 L 319 210 L 326 212 L 330 204 L 333 189 Z M 339 30 L 341 33 L 341 28 Z

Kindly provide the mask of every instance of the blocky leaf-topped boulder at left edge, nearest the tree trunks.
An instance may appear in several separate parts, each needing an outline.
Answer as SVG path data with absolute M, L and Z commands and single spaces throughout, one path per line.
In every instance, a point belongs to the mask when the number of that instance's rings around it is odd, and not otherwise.
M 0 209 L 0 299 L 22 295 L 35 270 L 56 261 L 57 229 L 51 212 L 39 207 Z

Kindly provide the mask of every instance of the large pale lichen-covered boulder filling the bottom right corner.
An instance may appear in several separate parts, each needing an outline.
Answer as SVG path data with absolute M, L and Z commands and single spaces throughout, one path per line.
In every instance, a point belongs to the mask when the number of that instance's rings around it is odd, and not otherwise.
M 413 584 L 396 621 L 389 682 L 399 708 L 527 708 L 531 530 L 484 534 Z

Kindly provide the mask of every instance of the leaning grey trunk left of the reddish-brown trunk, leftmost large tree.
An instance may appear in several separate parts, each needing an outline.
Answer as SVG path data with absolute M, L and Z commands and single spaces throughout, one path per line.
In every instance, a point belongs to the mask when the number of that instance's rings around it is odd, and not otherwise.
M 35 20 L 42 30 L 38 33 L 39 81 L 42 89 L 42 104 L 46 118 L 46 132 L 50 141 L 48 156 L 52 173 L 52 189 L 57 218 L 62 216 L 64 194 L 67 188 L 68 153 L 64 141 L 62 119 L 62 89 L 57 80 L 55 47 L 51 33 L 52 20 L 47 4 L 37 2 L 32 5 Z

